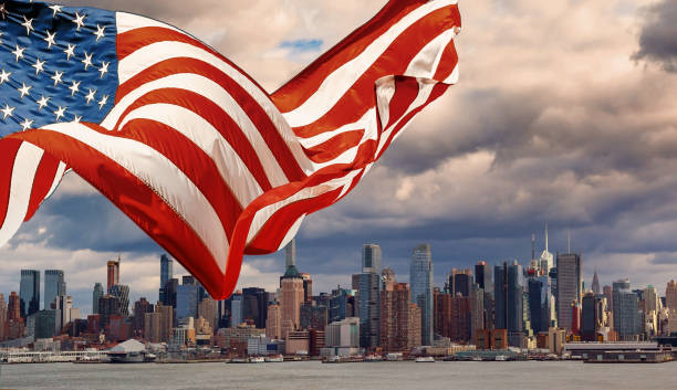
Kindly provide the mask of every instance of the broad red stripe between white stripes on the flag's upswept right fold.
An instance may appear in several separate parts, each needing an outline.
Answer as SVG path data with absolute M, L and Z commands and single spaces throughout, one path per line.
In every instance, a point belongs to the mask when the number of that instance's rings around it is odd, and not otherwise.
M 360 76 L 355 84 L 351 86 L 348 93 L 343 95 L 329 112 L 312 124 L 295 127 L 294 133 L 300 137 L 312 137 L 358 120 L 373 107 L 369 102 L 374 102 L 375 98 L 374 84 L 376 81 L 387 75 L 404 74 L 418 52 L 430 39 L 440 34 L 440 27 L 450 27 L 449 15 L 449 9 L 444 8 L 412 24 L 395 39 L 383 55 Z M 294 84 L 298 91 L 308 88 L 304 81 Z M 273 95 L 273 99 L 275 96 Z M 277 104 L 277 101 L 274 102 Z

